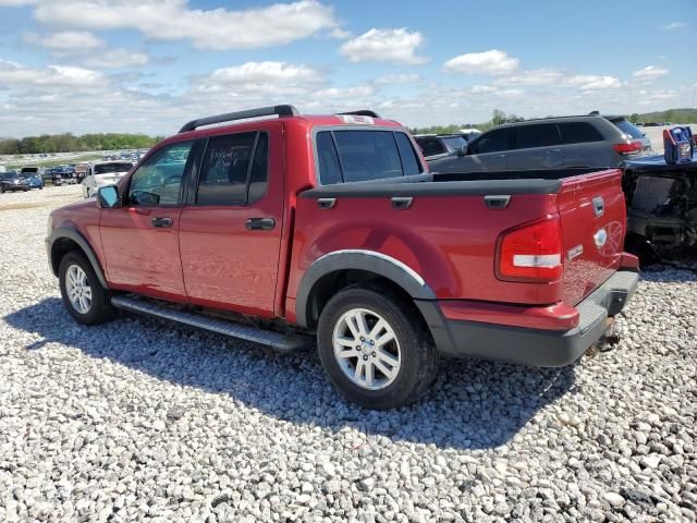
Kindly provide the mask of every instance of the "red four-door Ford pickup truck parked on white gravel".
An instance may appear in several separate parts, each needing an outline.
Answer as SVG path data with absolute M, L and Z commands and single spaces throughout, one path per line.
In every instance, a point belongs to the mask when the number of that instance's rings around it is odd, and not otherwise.
M 332 384 L 389 409 L 439 356 L 577 360 L 636 289 L 624 234 L 617 169 L 435 174 L 394 121 L 274 106 L 187 123 L 54 210 L 47 252 L 77 323 L 118 307 L 279 351 L 316 332 Z

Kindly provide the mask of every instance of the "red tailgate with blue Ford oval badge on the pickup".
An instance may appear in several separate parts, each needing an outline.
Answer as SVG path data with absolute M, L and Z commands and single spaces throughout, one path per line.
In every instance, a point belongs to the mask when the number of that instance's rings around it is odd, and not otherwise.
M 562 300 L 575 305 L 620 266 L 626 229 L 622 171 L 563 180 L 558 195 L 564 244 Z

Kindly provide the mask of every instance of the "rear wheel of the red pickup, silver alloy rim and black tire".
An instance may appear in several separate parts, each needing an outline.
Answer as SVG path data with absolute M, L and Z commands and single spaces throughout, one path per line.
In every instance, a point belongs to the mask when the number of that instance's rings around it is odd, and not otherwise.
M 356 329 L 360 316 L 364 326 Z M 380 321 L 384 324 L 378 328 Z M 362 342 L 356 335 L 365 333 Z M 415 305 L 386 288 L 354 285 L 333 296 L 319 318 L 317 348 L 332 385 L 366 409 L 416 401 L 438 370 L 436 346 Z

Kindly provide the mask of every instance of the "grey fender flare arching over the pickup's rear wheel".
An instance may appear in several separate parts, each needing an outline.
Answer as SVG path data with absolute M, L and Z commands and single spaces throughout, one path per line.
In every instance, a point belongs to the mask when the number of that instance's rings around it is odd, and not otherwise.
M 307 304 L 315 284 L 330 272 L 350 269 L 383 276 L 404 289 L 414 300 L 436 300 L 436 294 L 424 278 L 392 256 L 366 250 L 335 251 L 316 259 L 303 275 L 295 297 L 295 316 L 299 326 L 308 326 Z

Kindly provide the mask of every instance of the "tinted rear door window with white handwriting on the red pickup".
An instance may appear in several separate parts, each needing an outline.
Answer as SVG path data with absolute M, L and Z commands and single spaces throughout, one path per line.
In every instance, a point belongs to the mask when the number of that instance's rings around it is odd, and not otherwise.
M 199 205 L 244 205 L 266 193 L 268 136 L 239 133 L 211 136 L 198 179 Z

